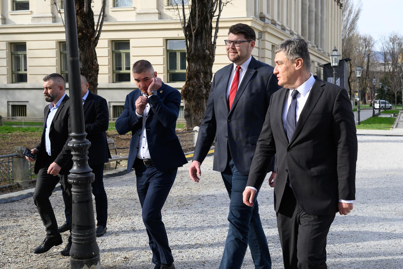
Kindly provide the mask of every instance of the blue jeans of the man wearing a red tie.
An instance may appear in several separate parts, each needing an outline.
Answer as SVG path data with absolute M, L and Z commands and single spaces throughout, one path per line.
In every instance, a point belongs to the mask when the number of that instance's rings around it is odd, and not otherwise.
M 242 175 L 232 160 L 221 176 L 231 202 L 228 214 L 229 230 L 220 269 L 241 268 L 248 244 L 255 268 L 271 269 L 272 261 L 260 222 L 258 201 L 255 197 L 253 207 L 243 203 L 242 193 L 248 176 Z

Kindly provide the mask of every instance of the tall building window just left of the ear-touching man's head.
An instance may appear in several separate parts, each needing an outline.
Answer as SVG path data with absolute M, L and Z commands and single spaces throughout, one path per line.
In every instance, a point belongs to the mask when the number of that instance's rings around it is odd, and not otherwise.
M 113 41 L 113 82 L 130 81 L 130 42 Z

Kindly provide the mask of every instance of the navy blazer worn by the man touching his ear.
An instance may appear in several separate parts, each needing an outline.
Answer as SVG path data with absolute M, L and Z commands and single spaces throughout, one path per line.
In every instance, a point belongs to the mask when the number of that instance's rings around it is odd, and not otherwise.
M 175 133 L 176 121 L 181 105 L 180 92 L 164 83 L 157 96 L 147 99 L 151 109 L 145 121 L 148 150 L 156 169 L 167 170 L 187 163 L 181 143 Z M 131 131 L 127 173 L 133 167 L 137 155 L 143 118 L 137 118 L 135 102 L 141 95 L 136 89 L 126 96 L 125 107 L 116 120 L 116 131 L 125 134 Z

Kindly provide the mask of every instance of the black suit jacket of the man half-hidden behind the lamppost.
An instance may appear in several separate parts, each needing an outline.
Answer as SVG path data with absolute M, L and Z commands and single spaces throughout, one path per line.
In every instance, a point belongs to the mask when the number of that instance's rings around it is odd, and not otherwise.
M 88 164 L 91 166 L 106 163 L 110 158 L 105 133 L 109 127 L 108 103 L 101 96 L 88 92 L 83 109 L 86 138 L 91 142 Z

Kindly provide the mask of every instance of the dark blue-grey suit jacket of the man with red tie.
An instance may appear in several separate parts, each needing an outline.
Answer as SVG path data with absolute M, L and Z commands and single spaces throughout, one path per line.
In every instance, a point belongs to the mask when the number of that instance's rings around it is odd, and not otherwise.
M 229 110 L 226 91 L 233 67 L 231 63 L 214 75 L 193 161 L 204 161 L 216 137 L 213 170 L 224 171 L 229 148 L 235 167 L 248 175 L 270 96 L 278 90 L 277 77 L 272 66 L 252 57 Z

